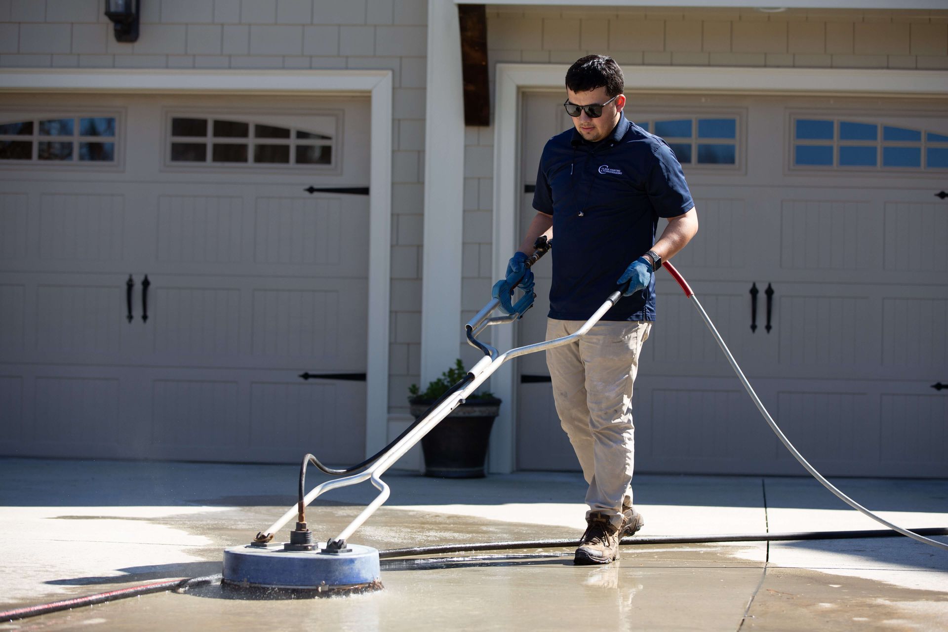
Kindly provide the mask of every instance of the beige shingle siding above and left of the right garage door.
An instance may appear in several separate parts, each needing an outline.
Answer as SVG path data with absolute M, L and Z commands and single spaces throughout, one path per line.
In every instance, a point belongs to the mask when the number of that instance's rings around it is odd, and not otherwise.
M 492 91 L 497 63 L 573 63 L 591 53 L 623 66 L 941 69 L 948 68 L 948 10 L 488 7 L 487 47 Z M 462 305 L 472 310 L 493 282 L 493 128 L 468 128 L 466 138 Z

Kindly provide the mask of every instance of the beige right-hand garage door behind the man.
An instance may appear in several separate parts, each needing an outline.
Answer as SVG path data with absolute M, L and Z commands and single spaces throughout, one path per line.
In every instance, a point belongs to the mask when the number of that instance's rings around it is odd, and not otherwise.
M 571 124 L 562 99 L 523 95 L 521 229 L 543 143 Z M 948 476 L 948 393 L 932 388 L 948 383 L 946 111 L 717 96 L 627 105 L 671 145 L 695 196 L 701 230 L 676 266 L 777 423 L 831 475 Z M 538 268 L 535 316 L 549 288 Z M 633 402 L 639 471 L 799 473 L 664 272 L 658 293 Z M 543 320 L 525 318 L 520 342 L 541 339 Z M 548 375 L 543 357 L 520 359 L 518 463 L 578 469 Z

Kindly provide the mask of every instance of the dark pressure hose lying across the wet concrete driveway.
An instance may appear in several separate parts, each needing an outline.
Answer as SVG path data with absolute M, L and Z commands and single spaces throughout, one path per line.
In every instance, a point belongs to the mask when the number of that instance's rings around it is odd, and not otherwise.
M 948 535 L 948 528 L 932 527 L 928 529 L 913 529 L 919 535 Z M 811 531 L 795 533 L 724 533 L 710 535 L 653 535 L 643 537 L 624 537 L 619 544 L 624 546 L 636 545 L 664 545 L 664 544 L 702 544 L 715 542 L 780 542 L 788 540 L 842 540 L 868 537 L 895 537 L 900 533 L 890 529 L 872 529 L 866 531 Z M 440 544 L 430 547 L 407 547 L 404 549 L 388 549 L 378 551 L 380 559 L 396 557 L 412 557 L 418 555 L 437 555 L 444 553 L 460 553 L 472 551 L 516 551 L 518 549 L 560 549 L 572 548 L 580 544 L 579 540 L 521 540 L 516 542 L 476 542 L 466 544 Z M 104 604 L 106 602 L 138 597 L 152 592 L 168 590 L 185 591 L 189 588 L 206 586 L 220 582 L 221 575 L 207 575 L 192 577 L 191 579 L 175 579 L 155 584 L 143 584 L 136 587 L 109 590 L 85 597 L 66 599 L 50 604 L 27 605 L 0 612 L 0 621 L 27 619 L 44 614 L 82 607 L 83 605 Z

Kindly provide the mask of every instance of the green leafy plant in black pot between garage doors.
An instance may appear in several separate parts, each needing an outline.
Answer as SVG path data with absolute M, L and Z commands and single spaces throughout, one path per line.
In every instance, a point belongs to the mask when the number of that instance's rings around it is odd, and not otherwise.
M 467 371 L 459 358 L 454 366 L 428 383 L 421 390 L 418 385 L 409 387 L 411 414 L 417 419 L 425 414 L 439 397 L 455 383 L 462 380 Z M 484 460 L 494 418 L 501 409 L 501 400 L 490 392 L 470 395 L 464 404 L 434 426 L 421 440 L 425 456 L 425 476 L 445 479 L 479 479 L 484 476 Z

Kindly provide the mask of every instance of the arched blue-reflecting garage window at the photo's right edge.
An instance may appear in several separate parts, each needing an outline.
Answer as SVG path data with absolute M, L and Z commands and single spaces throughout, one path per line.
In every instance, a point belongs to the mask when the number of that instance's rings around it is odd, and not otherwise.
M 948 135 L 832 118 L 793 119 L 793 167 L 927 171 L 948 169 Z

